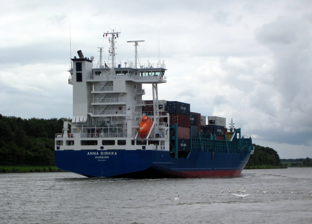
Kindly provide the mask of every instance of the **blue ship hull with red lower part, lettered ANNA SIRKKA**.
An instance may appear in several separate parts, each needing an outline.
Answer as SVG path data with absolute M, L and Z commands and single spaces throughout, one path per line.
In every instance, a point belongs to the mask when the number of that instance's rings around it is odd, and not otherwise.
M 250 158 L 247 153 L 190 152 L 171 158 L 155 150 L 55 151 L 56 166 L 86 177 L 202 178 L 237 177 Z

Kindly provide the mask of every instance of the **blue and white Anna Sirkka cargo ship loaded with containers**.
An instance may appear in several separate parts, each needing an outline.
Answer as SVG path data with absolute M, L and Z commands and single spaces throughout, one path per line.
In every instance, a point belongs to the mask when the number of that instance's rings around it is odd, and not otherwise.
M 190 104 L 158 99 L 164 62 L 116 62 L 120 32 L 105 32 L 108 61 L 71 58 L 73 117 L 55 135 L 55 164 L 86 177 L 238 177 L 254 152 L 251 136 L 227 128 L 224 117 L 191 112 Z M 129 44 L 129 45 L 130 45 Z M 143 100 L 149 84 L 150 100 Z

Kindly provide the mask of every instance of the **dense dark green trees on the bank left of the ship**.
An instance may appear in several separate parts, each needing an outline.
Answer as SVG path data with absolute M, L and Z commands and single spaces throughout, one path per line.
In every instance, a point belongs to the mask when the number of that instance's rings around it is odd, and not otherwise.
M 0 165 L 54 165 L 54 137 L 63 118 L 22 119 L 0 114 Z

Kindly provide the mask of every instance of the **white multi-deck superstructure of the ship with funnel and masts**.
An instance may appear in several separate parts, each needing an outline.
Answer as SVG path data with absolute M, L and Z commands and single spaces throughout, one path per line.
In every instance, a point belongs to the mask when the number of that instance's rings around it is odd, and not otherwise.
M 169 116 L 158 109 L 158 84 L 167 82 L 165 65 L 160 62 L 137 65 L 132 61 L 117 64 L 115 43 L 119 34 L 113 30 L 103 35 L 110 38 L 110 63 L 103 65 L 102 48 L 96 64 L 93 57 L 84 57 L 81 51 L 77 52 L 78 57 L 71 59 L 73 64 L 68 80 L 73 85 L 71 133 L 68 133 L 68 122 L 64 122 L 64 132 L 56 134 L 56 150 L 169 150 L 168 123 L 159 122 L 161 117 L 167 118 L 161 120 L 169 121 Z M 135 43 L 136 62 L 138 42 L 142 41 L 129 42 Z M 147 83 L 153 91 L 152 114 L 142 111 L 145 105 L 142 84 Z M 148 115 L 154 124 L 149 135 L 142 139 L 138 127 L 144 115 Z

